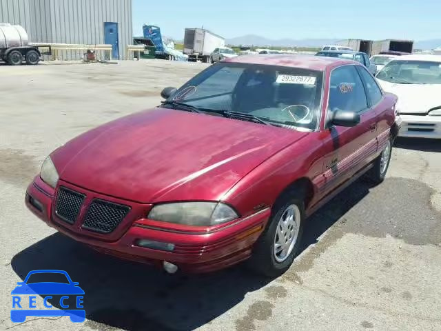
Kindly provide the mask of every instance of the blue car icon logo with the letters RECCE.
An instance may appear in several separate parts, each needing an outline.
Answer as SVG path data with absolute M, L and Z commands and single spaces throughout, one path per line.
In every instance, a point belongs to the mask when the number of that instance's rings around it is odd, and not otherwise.
M 52 281 L 46 281 L 49 279 Z M 70 321 L 74 323 L 85 321 L 84 291 L 79 287 L 79 283 L 73 282 L 68 272 L 63 270 L 33 270 L 23 282 L 17 283 L 11 294 L 11 321 L 14 323 L 22 323 L 28 316 L 69 316 Z M 49 299 L 53 301 L 54 297 L 57 299 L 59 297 L 59 305 L 62 309 L 55 309 L 48 302 Z

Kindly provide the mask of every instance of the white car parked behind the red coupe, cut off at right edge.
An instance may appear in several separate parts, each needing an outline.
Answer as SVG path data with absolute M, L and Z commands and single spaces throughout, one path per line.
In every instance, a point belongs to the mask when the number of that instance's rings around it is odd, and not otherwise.
M 441 55 L 397 57 L 376 78 L 398 96 L 399 136 L 441 139 Z

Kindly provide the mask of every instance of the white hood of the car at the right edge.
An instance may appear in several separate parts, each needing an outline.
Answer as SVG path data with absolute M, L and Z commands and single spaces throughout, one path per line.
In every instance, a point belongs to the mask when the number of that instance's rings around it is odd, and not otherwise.
M 431 108 L 441 106 L 440 85 L 396 84 L 381 79 L 378 82 L 383 90 L 396 94 L 400 114 L 427 114 Z

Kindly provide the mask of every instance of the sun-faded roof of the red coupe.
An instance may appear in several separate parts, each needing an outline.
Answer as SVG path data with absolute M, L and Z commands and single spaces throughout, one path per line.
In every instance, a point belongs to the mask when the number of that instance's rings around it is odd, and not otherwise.
M 232 59 L 224 60 L 234 63 L 264 64 L 268 66 L 283 66 L 310 70 L 325 71 L 326 69 L 354 64 L 357 62 L 340 59 L 338 57 L 317 57 L 305 54 L 249 54 L 240 55 Z

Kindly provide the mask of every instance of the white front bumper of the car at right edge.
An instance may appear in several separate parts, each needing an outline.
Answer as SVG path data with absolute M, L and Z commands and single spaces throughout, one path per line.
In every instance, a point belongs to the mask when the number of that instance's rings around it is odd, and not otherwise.
M 400 114 L 402 125 L 399 137 L 441 139 L 441 117 Z

